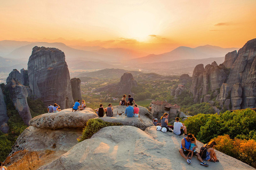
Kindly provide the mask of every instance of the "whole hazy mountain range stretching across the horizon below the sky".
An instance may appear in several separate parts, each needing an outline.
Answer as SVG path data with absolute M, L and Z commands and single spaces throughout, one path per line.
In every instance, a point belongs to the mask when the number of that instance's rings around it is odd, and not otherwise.
M 63 43 L 44 43 L 28 41 L 0 41 L 0 72 L 12 69 L 27 69 L 28 58 L 35 46 L 55 47 L 65 53 L 69 70 L 94 71 L 99 69 L 119 68 L 154 72 L 162 75 L 191 74 L 197 64 L 218 64 L 224 56 L 238 48 L 221 48 L 217 46 L 199 46 L 196 48 L 178 47 L 163 54 L 150 54 L 126 48 L 103 48 L 100 46 L 73 46 Z M 147 55 L 147 56 L 145 56 Z M 144 57 L 141 57 L 144 56 Z

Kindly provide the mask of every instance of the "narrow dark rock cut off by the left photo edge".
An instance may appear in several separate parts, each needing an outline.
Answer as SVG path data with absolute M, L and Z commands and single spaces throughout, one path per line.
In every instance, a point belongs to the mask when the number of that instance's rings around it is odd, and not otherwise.
M 9 131 L 9 126 L 7 125 L 8 120 L 9 120 L 9 117 L 7 116 L 7 109 L 4 101 L 4 94 L 0 87 L 0 131 L 2 131 L 3 133 L 8 133 Z

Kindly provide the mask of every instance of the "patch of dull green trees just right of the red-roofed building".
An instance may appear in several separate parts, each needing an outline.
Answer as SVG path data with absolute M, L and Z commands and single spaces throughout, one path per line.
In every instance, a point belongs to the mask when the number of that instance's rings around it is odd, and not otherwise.
M 203 113 L 203 114 L 215 113 L 214 109 L 209 103 L 200 103 L 200 104 L 191 105 L 189 107 L 182 107 L 181 111 L 191 116 L 197 115 L 199 113 Z

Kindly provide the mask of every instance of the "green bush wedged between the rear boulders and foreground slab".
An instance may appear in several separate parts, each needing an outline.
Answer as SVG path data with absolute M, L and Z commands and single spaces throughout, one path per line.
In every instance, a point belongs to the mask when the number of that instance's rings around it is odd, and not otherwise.
M 93 118 L 86 123 L 83 129 L 82 137 L 79 137 L 78 141 L 82 142 L 85 139 L 90 139 L 94 133 L 97 133 L 101 128 L 107 126 L 122 126 L 122 123 L 109 123 L 102 121 L 99 118 Z

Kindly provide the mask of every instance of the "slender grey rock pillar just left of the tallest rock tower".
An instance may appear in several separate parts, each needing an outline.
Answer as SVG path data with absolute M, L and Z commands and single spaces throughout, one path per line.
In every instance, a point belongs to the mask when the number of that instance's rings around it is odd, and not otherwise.
M 6 86 L 9 89 L 10 98 L 15 106 L 15 109 L 17 109 L 19 112 L 19 115 L 24 123 L 29 125 L 28 122 L 32 117 L 27 101 L 28 90 L 20 82 L 22 82 L 22 76 L 18 70 L 14 69 L 6 79 Z

